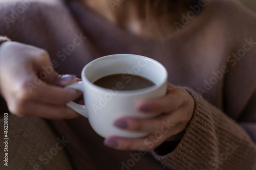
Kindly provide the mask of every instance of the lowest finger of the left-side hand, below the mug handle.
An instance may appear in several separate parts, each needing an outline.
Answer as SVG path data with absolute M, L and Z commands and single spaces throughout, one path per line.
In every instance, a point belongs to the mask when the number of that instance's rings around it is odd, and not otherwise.
M 29 103 L 26 110 L 33 110 L 22 115 L 36 115 L 48 119 L 72 119 L 80 115 L 65 105 L 49 105 L 43 103 Z

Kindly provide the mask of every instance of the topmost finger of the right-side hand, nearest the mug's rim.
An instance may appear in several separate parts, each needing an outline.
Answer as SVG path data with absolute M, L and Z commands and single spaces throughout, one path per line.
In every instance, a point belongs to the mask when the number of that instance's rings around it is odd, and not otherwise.
M 138 106 L 142 112 L 159 112 L 166 113 L 178 109 L 183 101 L 188 98 L 186 90 L 181 87 L 169 89 L 166 96 L 154 101 L 141 102 Z

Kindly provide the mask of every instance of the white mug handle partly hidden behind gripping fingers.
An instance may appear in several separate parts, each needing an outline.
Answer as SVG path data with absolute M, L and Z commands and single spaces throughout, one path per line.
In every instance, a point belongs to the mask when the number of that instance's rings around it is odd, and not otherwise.
M 84 92 L 83 87 L 82 87 L 82 81 L 73 83 L 73 84 L 68 85 L 64 88 L 72 88 L 72 89 L 80 90 L 80 91 Z M 68 107 L 70 107 L 72 110 L 74 110 L 75 112 L 77 112 L 77 113 L 81 114 L 82 116 L 88 118 L 88 114 L 87 114 L 87 111 L 86 111 L 86 106 L 76 104 L 75 102 L 69 102 L 69 103 L 66 103 L 66 105 Z

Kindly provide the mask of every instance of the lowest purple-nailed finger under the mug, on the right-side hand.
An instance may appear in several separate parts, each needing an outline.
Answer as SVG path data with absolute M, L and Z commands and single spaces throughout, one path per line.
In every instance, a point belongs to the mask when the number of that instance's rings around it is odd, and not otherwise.
M 163 143 L 166 138 L 165 134 L 152 134 L 137 139 L 109 137 L 104 139 L 104 145 L 121 151 L 152 151 Z

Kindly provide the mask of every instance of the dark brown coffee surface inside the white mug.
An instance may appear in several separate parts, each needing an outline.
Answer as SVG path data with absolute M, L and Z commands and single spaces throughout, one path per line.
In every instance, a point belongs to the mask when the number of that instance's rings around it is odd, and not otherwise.
M 114 74 L 104 76 L 94 82 L 95 85 L 117 89 L 117 90 L 138 90 L 146 87 L 154 86 L 151 80 L 132 74 Z

